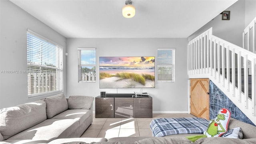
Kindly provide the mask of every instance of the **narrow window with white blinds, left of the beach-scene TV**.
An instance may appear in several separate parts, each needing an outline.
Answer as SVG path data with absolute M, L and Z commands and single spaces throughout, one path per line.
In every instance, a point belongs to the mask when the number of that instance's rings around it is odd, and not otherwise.
M 96 82 L 96 49 L 78 48 L 78 82 Z

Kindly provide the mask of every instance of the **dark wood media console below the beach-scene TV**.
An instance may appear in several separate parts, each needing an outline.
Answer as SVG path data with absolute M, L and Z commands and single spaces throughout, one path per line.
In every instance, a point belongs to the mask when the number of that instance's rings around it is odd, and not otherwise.
M 95 98 L 95 118 L 152 118 L 152 97 L 106 94 Z

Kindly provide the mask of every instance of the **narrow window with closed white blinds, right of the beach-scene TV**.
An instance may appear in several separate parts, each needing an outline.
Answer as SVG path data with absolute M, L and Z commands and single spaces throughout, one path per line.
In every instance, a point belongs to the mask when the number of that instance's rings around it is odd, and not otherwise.
M 158 82 L 174 82 L 175 80 L 175 48 L 158 48 L 157 80 Z

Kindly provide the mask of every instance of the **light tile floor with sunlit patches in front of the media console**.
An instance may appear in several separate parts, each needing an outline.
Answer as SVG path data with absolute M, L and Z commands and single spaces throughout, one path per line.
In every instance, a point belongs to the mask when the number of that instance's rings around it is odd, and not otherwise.
M 153 118 L 95 118 L 83 138 L 152 136 L 149 124 L 155 118 L 193 118 L 192 114 L 153 114 Z

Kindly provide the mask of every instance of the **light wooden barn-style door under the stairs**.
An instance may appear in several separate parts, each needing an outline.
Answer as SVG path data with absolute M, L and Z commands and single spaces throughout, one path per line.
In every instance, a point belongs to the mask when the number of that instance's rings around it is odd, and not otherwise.
M 190 79 L 190 113 L 209 120 L 209 79 Z

